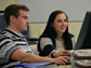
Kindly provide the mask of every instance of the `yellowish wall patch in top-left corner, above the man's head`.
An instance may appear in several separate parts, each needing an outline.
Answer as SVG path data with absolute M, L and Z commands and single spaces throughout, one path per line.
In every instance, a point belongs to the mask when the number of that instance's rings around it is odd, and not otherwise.
M 0 11 L 4 11 L 9 4 L 13 3 L 16 3 L 16 0 L 0 0 Z

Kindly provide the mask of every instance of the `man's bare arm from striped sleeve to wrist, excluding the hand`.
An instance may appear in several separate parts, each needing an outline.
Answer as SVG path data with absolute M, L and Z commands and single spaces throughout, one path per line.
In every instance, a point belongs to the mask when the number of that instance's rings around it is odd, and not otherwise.
M 43 62 L 51 62 L 51 59 L 42 59 L 40 56 L 34 55 L 31 53 L 25 53 L 23 50 L 16 50 L 12 55 L 11 59 L 20 60 L 23 63 L 43 63 Z

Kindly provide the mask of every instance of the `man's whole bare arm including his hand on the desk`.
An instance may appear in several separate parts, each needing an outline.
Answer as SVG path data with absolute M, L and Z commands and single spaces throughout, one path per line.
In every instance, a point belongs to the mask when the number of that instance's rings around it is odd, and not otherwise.
M 65 65 L 64 62 L 65 58 L 68 58 L 67 56 L 63 57 L 57 57 L 57 58 L 48 58 L 48 57 L 41 57 L 38 55 L 34 55 L 31 53 L 25 53 L 23 50 L 18 49 L 16 50 L 10 57 L 11 59 L 14 60 L 20 60 L 23 63 L 56 63 L 61 65 Z

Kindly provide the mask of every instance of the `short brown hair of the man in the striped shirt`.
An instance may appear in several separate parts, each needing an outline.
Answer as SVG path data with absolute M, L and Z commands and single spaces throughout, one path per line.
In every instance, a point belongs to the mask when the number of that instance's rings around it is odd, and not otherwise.
M 6 22 L 6 26 L 10 25 L 10 16 L 11 15 L 14 15 L 16 18 L 18 17 L 20 10 L 29 11 L 29 9 L 26 5 L 23 5 L 23 4 L 11 4 L 11 5 L 8 5 L 5 8 L 4 18 L 5 18 L 5 22 Z

